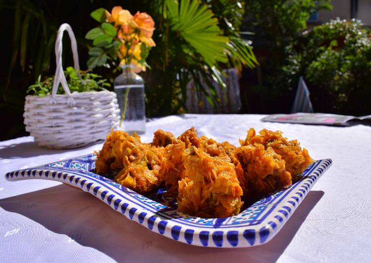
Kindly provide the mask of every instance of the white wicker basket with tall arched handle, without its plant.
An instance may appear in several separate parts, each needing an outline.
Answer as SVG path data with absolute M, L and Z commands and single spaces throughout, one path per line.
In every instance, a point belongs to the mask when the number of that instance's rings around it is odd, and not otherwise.
M 62 67 L 62 37 L 71 39 L 74 67 L 79 70 L 77 44 L 72 28 L 62 24 L 55 42 L 56 71 L 51 95 L 26 96 L 23 114 L 26 131 L 40 146 L 77 148 L 104 140 L 120 121 L 116 93 L 111 91 L 70 92 Z M 59 83 L 66 94 L 56 94 Z

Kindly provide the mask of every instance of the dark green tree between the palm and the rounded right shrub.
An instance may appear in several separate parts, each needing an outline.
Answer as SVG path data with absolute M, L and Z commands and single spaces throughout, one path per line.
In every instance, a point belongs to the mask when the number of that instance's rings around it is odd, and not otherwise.
M 290 46 L 306 29 L 313 12 L 331 9 L 330 0 L 246 0 L 246 6 L 242 30 L 254 33 L 252 43 L 260 66 L 242 83 L 245 111 L 289 112 L 301 68 Z

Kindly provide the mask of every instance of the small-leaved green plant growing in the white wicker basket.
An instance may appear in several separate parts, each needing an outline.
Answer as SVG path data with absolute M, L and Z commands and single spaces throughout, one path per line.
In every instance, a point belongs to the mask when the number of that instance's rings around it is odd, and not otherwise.
M 64 74 L 66 75 L 67 84 L 71 92 L 100 91 L 106 90 L 106 88 L 111 86 L 107 80 L 102 79 L 97 74 L 91 73 L 90 70 L 77 71 L 73 67 L 67 67 Z M 41 75 L 39 75 L 36 83 L 27 89 L 27 94 L 41 97 L 51 94 L 53 82 L 54 76 L 47 77 L 41 81 Z M 61 84 L 59 84 L 57 94 L 65 94 Z

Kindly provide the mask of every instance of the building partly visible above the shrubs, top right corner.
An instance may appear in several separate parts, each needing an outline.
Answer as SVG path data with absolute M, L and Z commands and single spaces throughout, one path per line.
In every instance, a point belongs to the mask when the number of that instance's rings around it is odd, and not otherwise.
M 330 19 L 357 18 L 371 26 L 371 0 L 331 0 L 332 10 L 321 10 L 311 16 L 309 24 L 322 24 Z

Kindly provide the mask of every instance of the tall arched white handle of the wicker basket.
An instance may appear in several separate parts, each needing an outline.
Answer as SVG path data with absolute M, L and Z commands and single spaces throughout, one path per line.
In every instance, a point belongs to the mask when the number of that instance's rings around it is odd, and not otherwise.
M 68 97 L 73 102 L 73 98 L 71 97 L 71 91 L 70 91 L 70 88 L 68 88 L 66 76 L 64 75 L 63 66 L 62 66 L 62 38 L 63 38 L 64 31 L 67 31 L 68 35 L 70 36 L 71 49 L 72 49 L 72 53 L 74 56 L 74 68 L 76 70 L 80 70 L 79 55 L 77 52 L 77 43 L 76 43 L 75 34 L 72 31 L 71 26 L 67 23 L 64 23 L 59 27 L 58 33 L 57 33 L 57 39 L 55 40 L 55 60 L 56 60 L 57 66 L 55 68 L 55 77 L 54 77 L 54 82 L 53 82 L 53 89 L 51 91 L 51 97 L 54 98 L 55 94 L 57 94 L 58 86 L 60 83 L 62 84 L 63 90 L 66 92 Z

